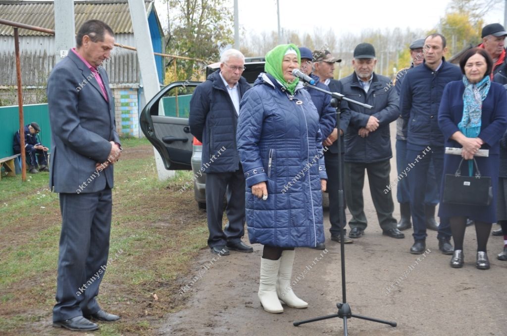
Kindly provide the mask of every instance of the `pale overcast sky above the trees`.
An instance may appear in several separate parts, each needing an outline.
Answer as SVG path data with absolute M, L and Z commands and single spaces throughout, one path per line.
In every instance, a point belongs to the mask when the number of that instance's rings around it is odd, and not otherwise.
M 227 0 L 233 8 L 233 0 Z M 450 0 L 279 0 L 280 25 L 282 28 L 298 30 L 300 33 L 313 33 L 314 29 L 323 32 L 330 28 L 340 33 L 356 34 L 363 29 L 393 29 L 395 27 L 412 30 L 429 30 L 437 26 L 444 16 Z M 163 0 L 155 0 L 162 26 L 167 27 L 167 6 Z M 276 31 L 276 0 L 238 0 L 240 27 L 245 31 L 261 33 Z M 503 24 L 503 3 L 489 10 L 486 23 Z M 170 10 L 170 9 L 169 9 Z M 313 13 L 313 15 L 311 15 Z M 337 19 L 339 17 L 340 19 Z

